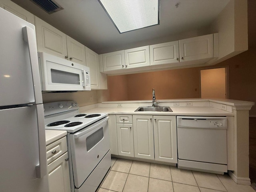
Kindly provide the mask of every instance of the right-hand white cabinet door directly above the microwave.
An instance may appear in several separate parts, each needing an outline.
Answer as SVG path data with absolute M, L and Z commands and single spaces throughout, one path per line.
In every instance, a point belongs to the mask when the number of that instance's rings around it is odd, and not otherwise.
M 70 36 L 66 36 L 66 38 L 67 38 L 68 60 L 82 64 L 82 65 L 86 65 L 85 46 L 80 42 L 72 39 Z

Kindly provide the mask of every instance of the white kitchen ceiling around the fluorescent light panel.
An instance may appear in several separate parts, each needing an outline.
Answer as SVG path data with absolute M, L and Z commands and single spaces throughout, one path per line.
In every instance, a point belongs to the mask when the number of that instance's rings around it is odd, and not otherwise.
M 162 43 L 173 40 L 172 36 L 206 28 L 229 2 L 160 0 L 160 25 L 119 34 L 98 0 L 56 0 L 64 10 L 53 14 L 46 13 L 30 0 L 12 1 L 98 54 Z M 180 2 L 178 8 L 177 2 Z

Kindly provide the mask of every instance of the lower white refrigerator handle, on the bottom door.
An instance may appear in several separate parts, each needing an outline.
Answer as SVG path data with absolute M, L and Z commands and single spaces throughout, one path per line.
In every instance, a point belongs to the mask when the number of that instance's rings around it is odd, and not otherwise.
M 38 120 L 38 146 L 39 146 L 39 164 L 36 166 L 36 177 L 42 178 L 47 173 L 43 104 L 36 105 L 36 115 Z

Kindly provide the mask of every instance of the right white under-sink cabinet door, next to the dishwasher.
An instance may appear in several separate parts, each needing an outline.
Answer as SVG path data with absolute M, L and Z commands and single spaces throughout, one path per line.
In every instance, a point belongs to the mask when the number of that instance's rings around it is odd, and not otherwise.
M 177 163 L 175 116 L 153 116 L 155 160 Z

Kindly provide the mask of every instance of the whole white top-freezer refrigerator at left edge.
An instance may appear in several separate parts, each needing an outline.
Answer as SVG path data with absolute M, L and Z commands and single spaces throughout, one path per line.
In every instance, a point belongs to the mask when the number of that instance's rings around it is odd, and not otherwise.
M 35 27 L 2 8 L 0 192 L 49 192 Z

